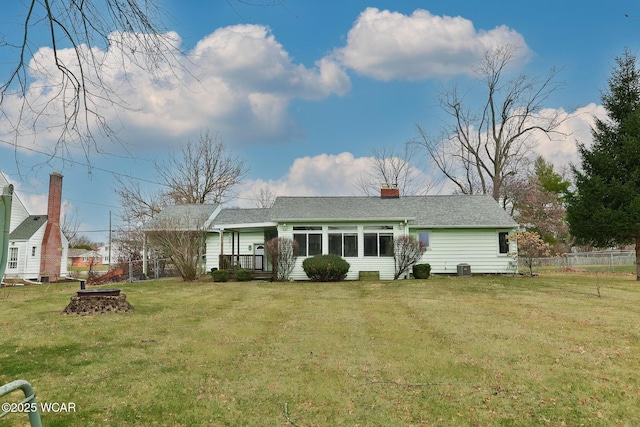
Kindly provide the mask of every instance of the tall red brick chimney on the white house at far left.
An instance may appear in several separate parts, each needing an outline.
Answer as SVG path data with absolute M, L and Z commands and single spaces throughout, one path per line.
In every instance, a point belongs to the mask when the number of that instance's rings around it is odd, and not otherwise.
M 53 172 L 49 177 L 47 226 L 42 238 L 40 280 L 57 282 L 60 279 L 62 239 L 60 237 L 60 206 L 62 204 L 62 175 Z

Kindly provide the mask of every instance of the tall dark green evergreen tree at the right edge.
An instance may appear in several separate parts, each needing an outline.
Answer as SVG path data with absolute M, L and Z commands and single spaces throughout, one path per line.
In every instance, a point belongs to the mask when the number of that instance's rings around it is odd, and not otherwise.
M 635 241 L 640 280 L 640 70 L 628 50 L 616 58 L 602 95 L 607 111 L 592 129 L 593 145 L 578 145 L 576 191 L 568 198 L 567 221 L 578 242 L 598 247 Z

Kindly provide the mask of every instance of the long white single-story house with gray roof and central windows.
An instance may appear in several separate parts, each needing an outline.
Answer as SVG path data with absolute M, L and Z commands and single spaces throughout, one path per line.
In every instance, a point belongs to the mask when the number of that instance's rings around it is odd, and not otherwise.
M 420 263 L 431 272 L 455 274 L 459 264 L 471 273 L 517 271 L 516 242 L 508 236 L 518 224 L 489 196 L 409 196 L 397 189 L 381 197 L 278 197 L 271 208 L 222 209 L 209 227 L 206 268 L 230 263 L 267 271 L 265 244 L 272 237 L 298 242 L 300 253 L 291 274 L 308 279 L 302 261 L 333 253 L 351 268 L 393 279 L 393 239 L 414 236 L 428 247 Z

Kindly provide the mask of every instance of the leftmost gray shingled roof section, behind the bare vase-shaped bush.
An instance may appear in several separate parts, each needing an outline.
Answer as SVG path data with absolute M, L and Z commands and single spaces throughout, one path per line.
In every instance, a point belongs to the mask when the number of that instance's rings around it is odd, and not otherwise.
M 218 204 L 167 206 L 150 219 L 143 229 L 153 231 L 166 230 L 170 227 L 172 230 L 200 230 L 218 206 Z

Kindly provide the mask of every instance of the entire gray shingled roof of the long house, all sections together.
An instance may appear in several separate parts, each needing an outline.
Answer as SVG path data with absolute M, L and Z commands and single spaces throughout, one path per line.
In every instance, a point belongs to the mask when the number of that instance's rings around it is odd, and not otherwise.
M 164 221 L 169 219 L 176 221 L 176 218 L 180 221 L 187 219 L 192 227 L 189 229 L 199 229 L 216 207 L 217 205 L 168 206 L 147 223 L 145 230 L 151 231 Z M 198 220 L 193 221 L 194 218 Z M 490 196 L 480 195 L 408 196 L 397 199 L 278 197 L 271 208 L 222 209 L 213 224 L 224 226 L 270 222 L 404 220 L 413 227 L 425 228 L 514 228 L 518 226 L 495 200 Z M 196 228 L 193 228 L 194 224 L 197 224 Z

